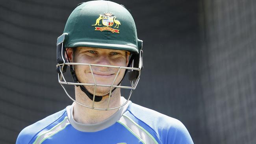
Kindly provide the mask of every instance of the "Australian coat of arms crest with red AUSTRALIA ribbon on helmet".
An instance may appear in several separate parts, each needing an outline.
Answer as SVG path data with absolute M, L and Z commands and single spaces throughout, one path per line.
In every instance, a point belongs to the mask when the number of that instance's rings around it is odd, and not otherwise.
M 102 26 L 102 24 L 104 25 L 103 27 L 95 27 L 96 31 L 111 31 L 112 33 L 119 33 L 119 30 L 114 29 L 114 28 L 119 28 L 119 25 L 121 25 L 121 23 L 119 22 L 119 20 L 116 20 L 115 16 L 112 16 L 112 13 L 104 13 L 104 15 L 100 15 L 97 19 L 95 24 L 93 24 L 92 26 Z M 111 28 L 113 25 L 115 24 L 114 28 Z

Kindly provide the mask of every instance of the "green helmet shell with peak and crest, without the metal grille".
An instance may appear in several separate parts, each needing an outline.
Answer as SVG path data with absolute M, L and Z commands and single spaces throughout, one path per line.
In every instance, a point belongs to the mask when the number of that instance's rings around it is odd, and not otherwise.
M 63 36 L 66 48 L 87 46 L 126 50 L 134 54 L 139 54 L 142 48 L 129 11 L 120 4 L 105 0 L 79 4 L 69 16 Z M 59 40 L 63 41 L 63 38 Z

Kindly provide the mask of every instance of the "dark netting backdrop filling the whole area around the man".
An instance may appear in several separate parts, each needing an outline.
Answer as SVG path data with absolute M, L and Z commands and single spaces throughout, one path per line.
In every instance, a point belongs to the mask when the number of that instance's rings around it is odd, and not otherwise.
M 1 144 L 72 103 L 58 84 L 56 39 L 80 2 L 1 0 Z M 195 144 L 255 144 L 256 1 L 114 2 L 143 40 L 132 102 L 179 119 Z

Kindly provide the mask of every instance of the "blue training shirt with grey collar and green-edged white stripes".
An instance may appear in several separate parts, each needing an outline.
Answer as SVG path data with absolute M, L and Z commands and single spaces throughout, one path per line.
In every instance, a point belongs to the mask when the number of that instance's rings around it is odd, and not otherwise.
M 98 124 L 76 122 L 73 105 L 24 128 L 16 144 L 193 144 L 179 120 L 130 101 Z

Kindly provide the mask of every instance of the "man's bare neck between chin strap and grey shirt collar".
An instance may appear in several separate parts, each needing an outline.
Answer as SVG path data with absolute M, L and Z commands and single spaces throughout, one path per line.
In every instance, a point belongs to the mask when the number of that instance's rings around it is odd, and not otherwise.
M 75 87 L 76 101 L 83 103 L 84 105 L 91 106 L 93 101 L 85 95 L 84 92 L 79 87 Z M 100 102 L 95 102 L 94 107 L 96 108 L 106 108 L 108 104 L 108 95 L 104 96 Z M 111 94 L 109 101 L 109 108 L 117 107 L 121 105 L 121 93 L 120 89 L 115 89 Z M 74 104 L 73 107 L 73 117 L 76 122 L 82 124 L 96 124 L 102 122 L 112 116 L 118 109 L 113 110 L 95 110 L 84 107 L 78 103 Z

